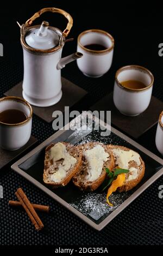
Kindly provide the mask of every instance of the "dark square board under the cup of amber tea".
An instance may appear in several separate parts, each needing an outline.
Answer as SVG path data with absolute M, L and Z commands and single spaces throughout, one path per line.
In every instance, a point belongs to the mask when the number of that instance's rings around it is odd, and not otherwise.
M 139 116 L 125 116 L 118 111 L 113 102 L 113 93 L 106 95 L 90 108 L 94 110 L 111 110 L 111 123 L 124 133 L 137 139 L 158 122 L 159 114 L 163 110 L 163 102 L 152 96 L 147 110 Z

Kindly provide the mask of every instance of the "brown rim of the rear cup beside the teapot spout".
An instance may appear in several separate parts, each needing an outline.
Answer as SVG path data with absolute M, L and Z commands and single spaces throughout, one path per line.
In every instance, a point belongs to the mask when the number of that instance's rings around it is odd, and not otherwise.
M 110 39 L 111 39 L 111 46 L 108 47 L 107 49 L 105 50 L 90 50 L 90 49 L 87 49 L 83 44 L 80 43 L 80 38 L 82 37 L 82 35 L 84 34 L 87 34 L 87 33 L 90 33 L 90 32 L 98 32 L 98 33 L 102 33 L 102 34 L 105 34 L 107 35 Z M 114 49 L 114 44 L 115 44 L 115 40 L 114 40 L 114 37 L 112 37 L 112 35 L 102 29 L 96 29 L 96 28 L 93 28 L 93 29 L 87 29 L 83 32 L 81 32 L 79 35 L 78 35 L 78 45 L 85 51 L 87 52 L 90 52 L 90 53 L 96 53 L 96 54 L 101 54 L 101 53 L 106 53 L 106 52 L 110 52 L 112 49 Z

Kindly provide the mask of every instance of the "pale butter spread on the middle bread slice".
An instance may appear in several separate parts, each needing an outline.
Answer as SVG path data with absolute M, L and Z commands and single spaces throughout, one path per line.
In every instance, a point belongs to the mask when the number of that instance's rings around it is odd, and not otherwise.
M 96 145 L 90 150 L 86 150 L 84 153 L 87 161 L 87 181 L 95 181 L 102 173 L 103 164 L 109 158 L 109 154 L 105 152 L 104 147 Z

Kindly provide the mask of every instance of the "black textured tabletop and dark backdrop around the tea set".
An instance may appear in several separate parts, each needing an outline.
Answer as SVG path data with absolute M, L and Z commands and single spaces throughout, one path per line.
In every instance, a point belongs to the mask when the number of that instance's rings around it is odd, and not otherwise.
M 106 5 L 107 2 L 107 5 Z M 76 50 L 77 36 L 89 28 L 108 31 L 115 38 L 115 52 L 112 67 L 99 79 L 86 78 L 75 62 L 62 70 L 62 76 L 89 92 L 76 110 L 86 110 L 89 106 L 112 91 L 115 72 L 126 64 L 145 66 L 154 74 L 153 95 L 163 100 L 163 57 L 158 56 L 158 45 L 162 43 L 162 8 L 132 1 L 130 4 L 114 5 L 109 1 L 34 1 L 14 2 L 1 5 L 0 43 L 4 46 L 4 57 L 0 57 L 0 96 L 23 78 L 23 55 L 20 44 L 20 31 L 16 20 L 25 22 L 35 11 L 43 7 L 58 7 L 68 11 L 74 19 L 70 37 L 74 41 L 64 47 L 63 56 Z M 108 6 L 108 7 L 107 7 Z M 149 9 L 150 8 L 150 9 Z M 52 26 L 64 29 L 64 17 L 45 14 L 42 19 Z M 37 20 L 39 23 L 39 20 Z M 140 124 L 141 125 L 141 124 Z M 53 134 L 52 125 L 34 116 L 33 135 L 43 141 Z M 139 138 L 138 142 L 160 156 L 156 150 L 156 126 Z M 4 199 L 0 199 L 0 244 L 1 245 L 161 245 L 163 243 L 163 200 L 158 198 L 158 187 L 163 184 L 159 178 L 138 199 L 118 215 L 101 232 L 88 227 L 72 213 L 47 197 L 9 167 L 0 170 L 0 184 L 4 188 Z M 54 215 L 40 215 L 45 226 L 42 233 L 32 227 L 26 213 L 10 209 L 8 200 L 15 198 L 14 192 L 22 187 L 30 200 L 49 204 Z

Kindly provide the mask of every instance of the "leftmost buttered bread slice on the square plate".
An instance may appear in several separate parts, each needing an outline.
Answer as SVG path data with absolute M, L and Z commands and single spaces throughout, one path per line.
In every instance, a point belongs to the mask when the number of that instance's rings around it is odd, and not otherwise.
M 82 164 L 82 150 L 69 143 L 58 142 L 45 150 L 43 182 L 52 188 L 64 187 Z

